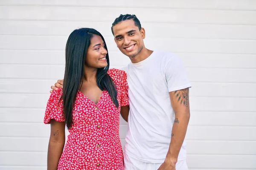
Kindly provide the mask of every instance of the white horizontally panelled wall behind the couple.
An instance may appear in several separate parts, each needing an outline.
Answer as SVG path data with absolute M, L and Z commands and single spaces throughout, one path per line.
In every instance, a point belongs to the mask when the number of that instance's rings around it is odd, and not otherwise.
M 46 170 L 44 109 L 64 75 L 67 37 L 96 28 L 121 68 L 129 59 L 110 28 L 126 13 L 140 19 L 148 48 L 186 65 L 189 169 L 256 169 L 256 0 L 0 0 L 0 170 Z M 121 120 L 122 143 L 126 130 Z

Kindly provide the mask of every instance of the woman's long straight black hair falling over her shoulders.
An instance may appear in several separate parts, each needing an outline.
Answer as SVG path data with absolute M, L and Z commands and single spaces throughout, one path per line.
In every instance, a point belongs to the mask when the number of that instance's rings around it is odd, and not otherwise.
M 67 128 L 70 129 L 73 124 L 73 107 L 76 101 L 76 94 L 81 88 L 84 79 L 84 63 L 87 54 L 87 49 L 90 46 L 90 40 L 94 35 L 99 35 L 105 43 L 105 48 L 108 51 L 106 42 L 98 31 L 93 28 L 80 28 L 74 30 L 68 37 L 66 44 L 66 67 L 63 83 L 63 112 Z M 117 91 L 113 79 L 107 74 L 109 69 L 109 57 L 106 55 L 108 66 L 98 68 L 97 85 L 103 91 L 107 90 L 116 108 L 119 107 L 117 101 Z

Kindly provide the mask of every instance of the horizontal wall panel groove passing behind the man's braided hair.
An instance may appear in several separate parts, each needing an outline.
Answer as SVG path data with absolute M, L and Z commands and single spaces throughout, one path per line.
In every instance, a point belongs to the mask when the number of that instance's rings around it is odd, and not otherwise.
M 29 20 L 24 20 L 24 19 L 9 19 L 9 18 L 0 18 L 0 20 L 3 21 L 64 21 L 64 22 L 113 22 L 113 20 L 43 20 L 43 19 L 29 19 Z M 159 24 L 168 24 L 168 23 L 176 23 L 176 24 L 198 24 L 198 25 L 224 25 L 224 26 L 256 26 L 256 24 L 227 24 L 227 23 L 191 23 L 191 22 L 163 22 L 163 21 L 141 21 L 143 23 L 159 23 Z

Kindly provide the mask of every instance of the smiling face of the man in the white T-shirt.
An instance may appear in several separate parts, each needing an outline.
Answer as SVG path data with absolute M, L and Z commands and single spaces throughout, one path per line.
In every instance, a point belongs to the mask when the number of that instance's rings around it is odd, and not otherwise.
M 113 33 L 117 47 L 130 59 L 134 59 L 144 48 L 145 30 L 139 30 L 133 20 L 116 24 L 113 26 Z

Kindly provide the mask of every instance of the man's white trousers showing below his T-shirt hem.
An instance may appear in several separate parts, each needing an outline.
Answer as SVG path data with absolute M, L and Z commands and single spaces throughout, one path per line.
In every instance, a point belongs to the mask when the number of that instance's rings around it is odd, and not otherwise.
M 162 163 L 152 164 L 147 162 L 138 161 L 124 154 L 125 170 L 157 170 Z M 176 170 L 188 170 L 186 160 L 177 161 Z

